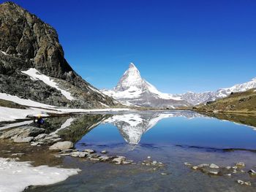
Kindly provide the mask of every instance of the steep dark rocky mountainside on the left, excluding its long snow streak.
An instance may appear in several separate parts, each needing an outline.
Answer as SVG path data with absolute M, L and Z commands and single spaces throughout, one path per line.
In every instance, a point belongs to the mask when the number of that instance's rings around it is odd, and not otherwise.
M 12 2 L 0 4 L 0 50 L 2 93 L 65 107 L 102 107 L 99 102 L 114 105 L 113 99 L 92 90 L 69 66 L 56 30 Z M 59 80 L 77 99 L 69 101 L 56 88 L 20 72 L 29 68 Z

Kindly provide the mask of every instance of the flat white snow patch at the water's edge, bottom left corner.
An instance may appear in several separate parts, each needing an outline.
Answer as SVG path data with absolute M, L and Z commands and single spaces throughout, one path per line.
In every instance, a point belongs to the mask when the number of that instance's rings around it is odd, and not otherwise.
M 30 185 L 52 185 L 67 180 L 78 172 L 80 169 L 34 167 L 29 162 L 0 158 L 0 192 L 19 192 Z

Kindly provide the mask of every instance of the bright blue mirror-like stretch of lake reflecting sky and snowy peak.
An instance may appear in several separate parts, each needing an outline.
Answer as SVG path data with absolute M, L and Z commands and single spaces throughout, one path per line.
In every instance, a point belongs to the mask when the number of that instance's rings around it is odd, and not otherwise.
M 189 113 L 189 112 L 187 112 Z M 190 112 L 114 115 L 80 142 L 97 145 L 189 145 L 216 148 L 256 148 L 256 131 L 244 125 Z M 192 118 L 191 117 L 194 117 Z M 127 118 L 128 117 L 128 118 Z

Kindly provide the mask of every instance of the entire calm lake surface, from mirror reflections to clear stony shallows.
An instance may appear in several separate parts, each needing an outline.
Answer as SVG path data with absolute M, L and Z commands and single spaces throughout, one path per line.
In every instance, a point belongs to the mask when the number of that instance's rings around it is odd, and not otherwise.
M 81 169 L 80 174 L 56 185 L 26 191 L 256 191 L 256 179 L 247 173 L 213 177 L 184 165 L 234 166 L 243 161 L 245 172 L 256 169 L 256 153 L 249 151 L 256 150 L 252 126 L 195 112 L 79 115 L 49 120 L 48 126 L 54 127 L 50 131 L 57 130 L 75 142 L 78 150 L 107 150 L 108 155 L 124 155 L 137 164 L 93 163 L 64 157 L 62 164 Z M 154 170 L 142 165 L 148 156 L 165 166 Z M 238 179 L 248 180 L 252 186 L 238 185 Z

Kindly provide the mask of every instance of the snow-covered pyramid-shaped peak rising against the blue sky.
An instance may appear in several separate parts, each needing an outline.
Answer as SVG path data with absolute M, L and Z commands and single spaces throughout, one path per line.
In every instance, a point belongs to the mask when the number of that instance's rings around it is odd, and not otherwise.
M 115 88 L 102 92 L 123 104 L 170 109 L 187 105 L 187 102 L 179 96 L 158 91 L 154 85 L 140 76 L 139 70 L 132 63 L 129 64 L 129 68 L 124 72 Z

